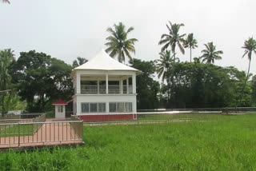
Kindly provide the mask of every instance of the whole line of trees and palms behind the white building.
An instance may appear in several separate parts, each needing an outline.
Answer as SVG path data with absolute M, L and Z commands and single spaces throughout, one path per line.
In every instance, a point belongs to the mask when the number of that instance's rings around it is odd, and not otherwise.
M 213 42 L 204 44 L 202 55 L 192 61 L 192 50 L 198 47 L 194 34 L 180 34 L 184 24 L 172 24 L 162 34 L 159 56 L 154 61 L 132 58 L 135 54 L 136 38 L 128 38 L 133 27 L 119 22 L 107 28 L 106 52 L 119 62 L 128 58 L 129 65 L 142 70 L 137 77 L 138 109 L 155 108 L 199 108 L 256 105 L 256 76 L 250 74 L 250 62 L 256 53 L 256 41 L 249 38 L 242 48 L 242 57 L 247 56 L 247 73 L 233 66 L 215 66 L 215 60 L 222 59 L 222 50 Z M 190 62 L 180 62 L 177 48 L 185 54 L 190 50 Z M 14 51 L 0 50 L 0 95 L 1 110 L 26 108 L 30 112 L 44 112 L 53 109 L 52 102 L 62 98 L 70 100 L 74 95 L 71 70 L 87 62 L 78 57 L 73 65 L 50 55 L 30 50 L 21 52 L 17 60 Z M 157 74 L 160 81 L 154 76 Z M 250 79 L 251 78 L 251 79 Z M 11 89 L 11 91 L 5 91 Z M 4 91 L 1 93 L 1 91 Z

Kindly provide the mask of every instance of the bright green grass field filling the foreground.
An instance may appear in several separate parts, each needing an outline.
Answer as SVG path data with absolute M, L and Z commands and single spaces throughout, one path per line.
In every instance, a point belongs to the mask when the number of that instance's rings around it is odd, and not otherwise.
M 256 114 L 84 127 L 86 145 L 0 153 L 0 170 L 255 170 Z

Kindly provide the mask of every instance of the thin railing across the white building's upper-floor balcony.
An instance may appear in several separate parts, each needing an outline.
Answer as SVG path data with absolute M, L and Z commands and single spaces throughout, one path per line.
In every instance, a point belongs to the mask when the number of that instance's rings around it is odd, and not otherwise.
M 126 87 L 122 86 L 122 93 L 127 93 Z M 133 93 L 132 85 L 128 85 L 128 92 Z M 106 93 L 106 85 L 81 85 L 81 93 Z M 109 85 L 109 93 L 121 93 L 120 85 Z

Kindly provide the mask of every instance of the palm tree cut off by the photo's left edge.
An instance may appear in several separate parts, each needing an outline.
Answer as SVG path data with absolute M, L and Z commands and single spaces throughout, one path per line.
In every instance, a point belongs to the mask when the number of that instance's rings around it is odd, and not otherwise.
M 4 98 L 5 92 L 10 88 L 10 74 L 9 74 L 9 66 L 11 62 L 14 61 L 14 51 L 7 49 L 0 51 L 0 90 L 2 93 L 2 115 L 4 113 Z

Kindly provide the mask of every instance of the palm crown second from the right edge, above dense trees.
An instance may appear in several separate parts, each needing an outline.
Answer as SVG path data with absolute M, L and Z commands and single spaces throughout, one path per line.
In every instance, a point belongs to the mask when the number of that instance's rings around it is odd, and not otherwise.
M 223 54 L 222 50 L 216 50 L 216 46 L 214 46 L 213 42 L 209 42 L 204 44 L 206 46 L 206 50 L 202 50 L 202 62 L 206 63 L 214 63 L 215 60 L 220 60 L 222 57 L 220 54 Z

